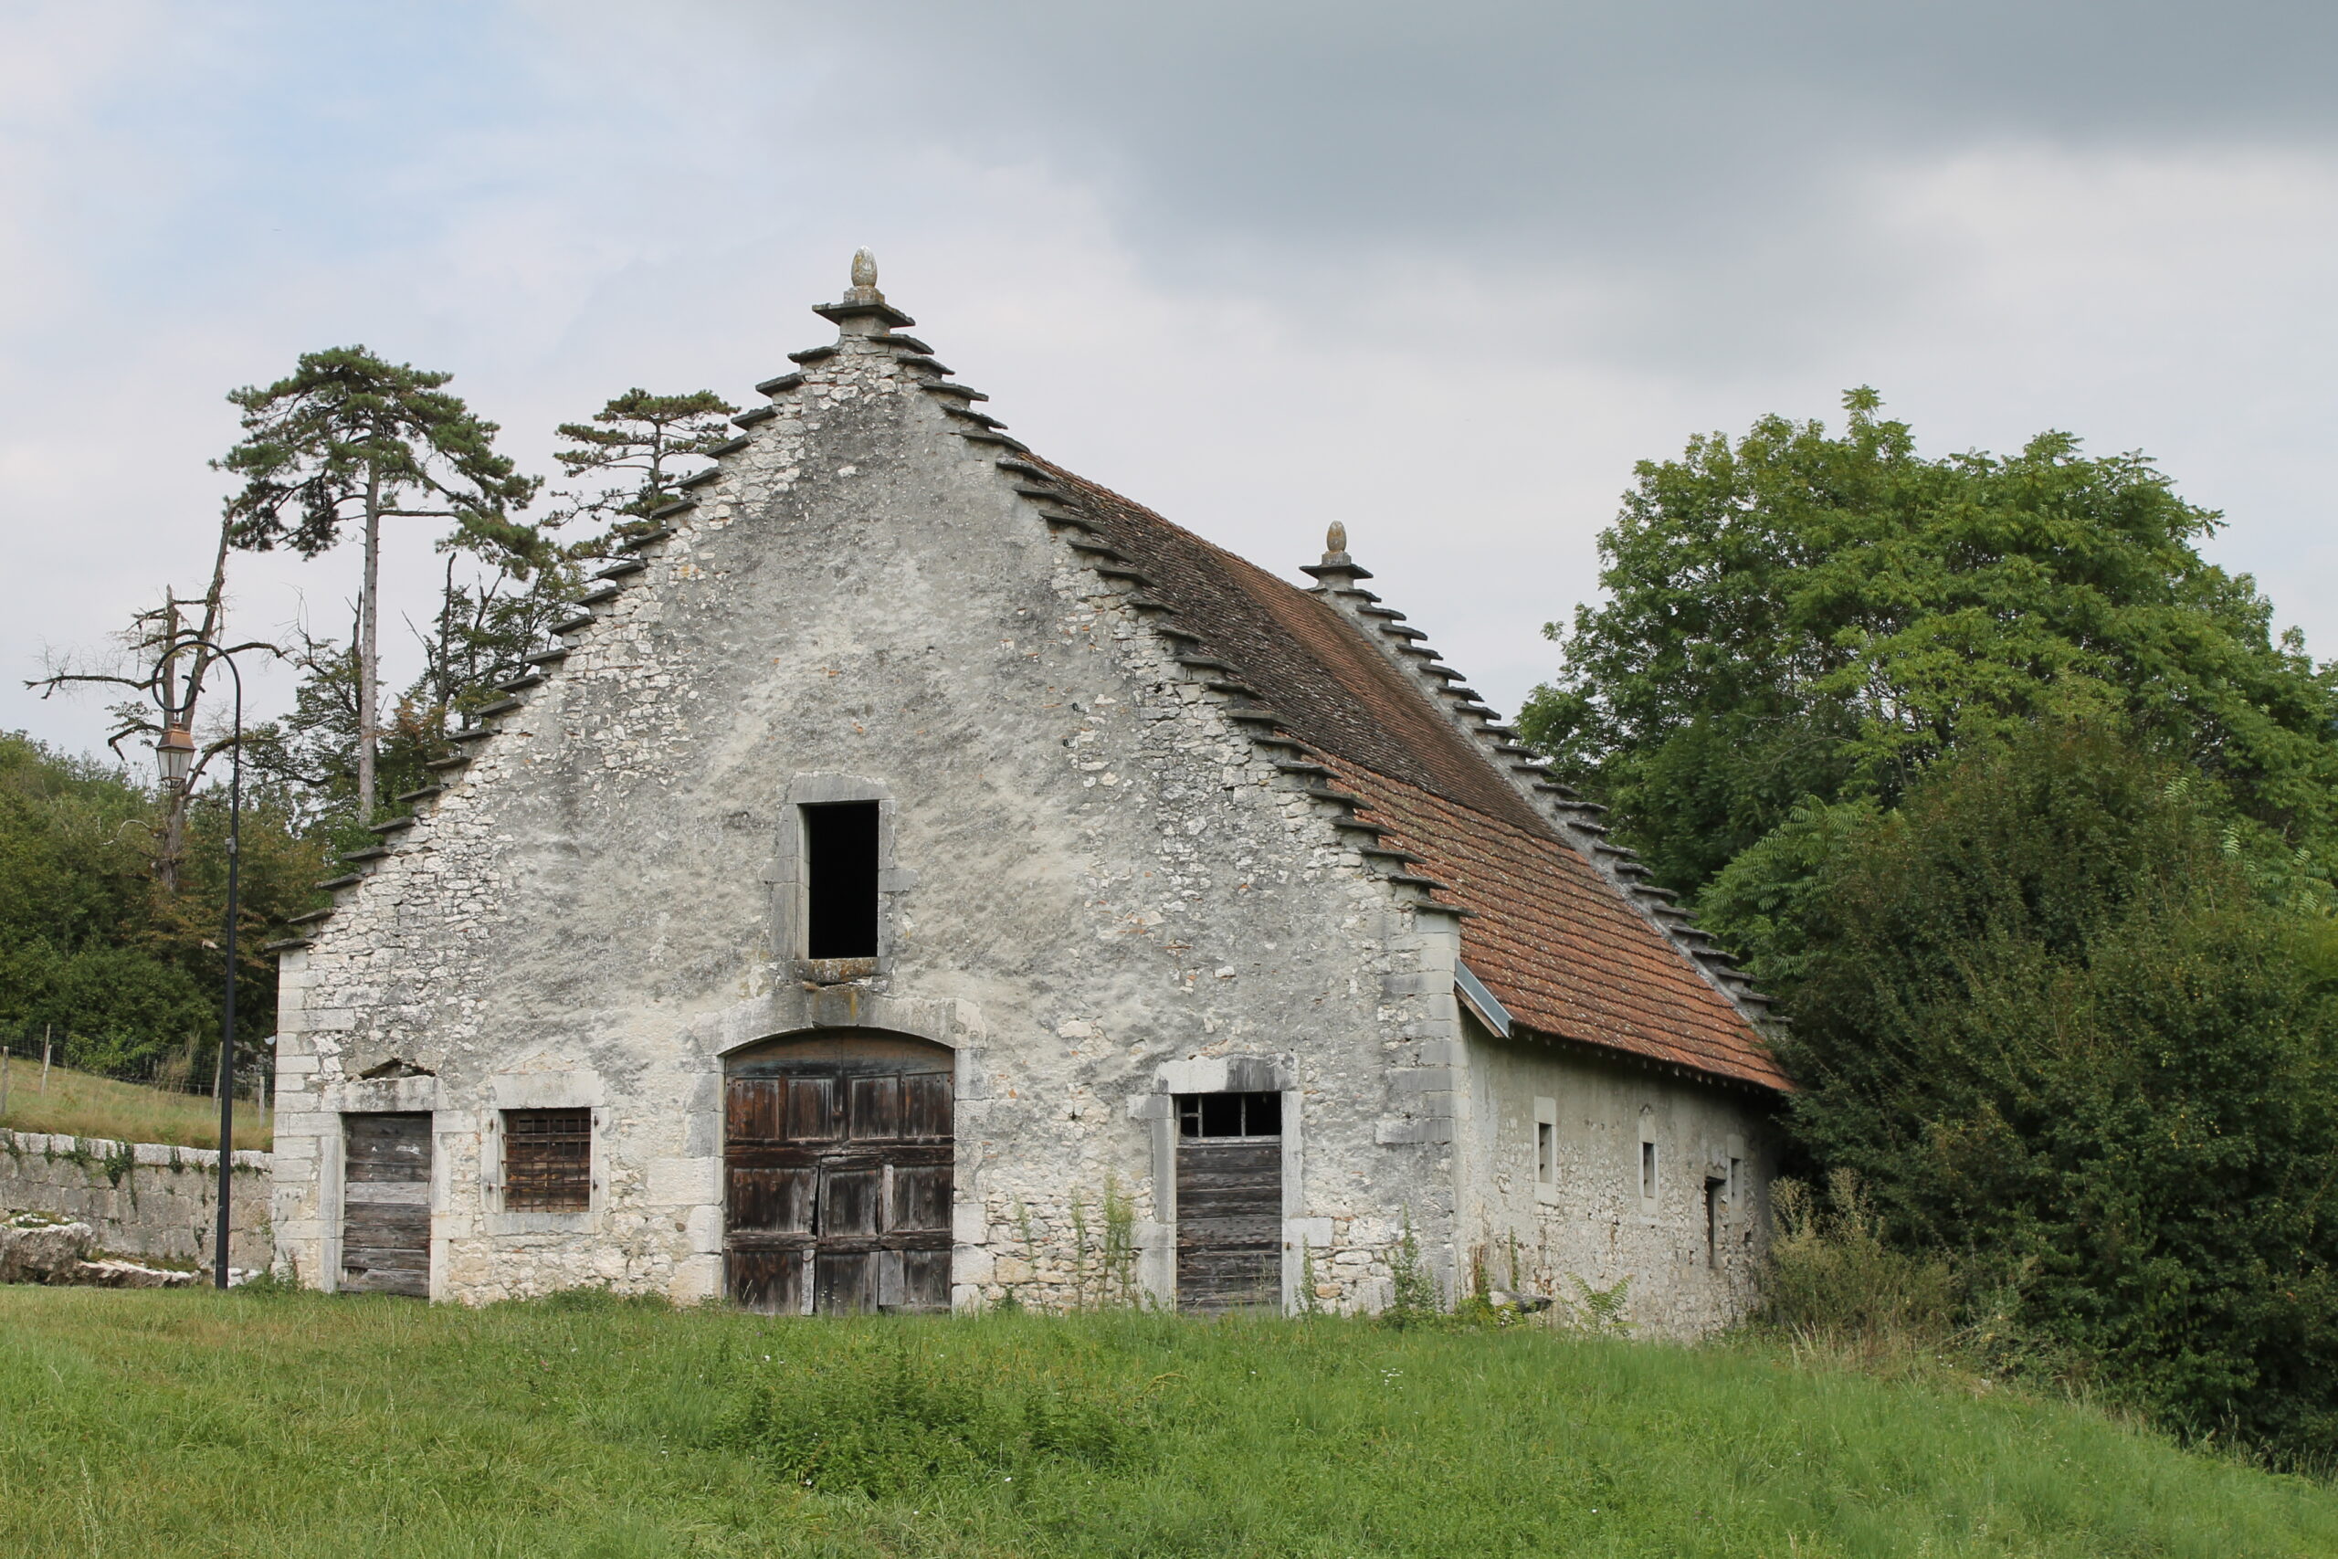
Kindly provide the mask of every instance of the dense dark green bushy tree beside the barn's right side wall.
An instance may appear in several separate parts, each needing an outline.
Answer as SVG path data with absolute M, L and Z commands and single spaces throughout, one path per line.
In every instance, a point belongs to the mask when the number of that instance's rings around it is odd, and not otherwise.
M 1789 998 L 1791 1124 L 2015 1353 L 2191 1433 L 2338 1451 L 2338 921 L 2116 725 L 1805 806 L 1707 921 Z

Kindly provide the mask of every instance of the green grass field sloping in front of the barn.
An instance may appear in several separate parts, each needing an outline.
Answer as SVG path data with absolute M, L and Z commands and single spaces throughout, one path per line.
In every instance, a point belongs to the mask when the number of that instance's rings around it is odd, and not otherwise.
M 1751 1349 L 0 1288 L 5 1554 L 2338 1554 L 2338 1491 Z

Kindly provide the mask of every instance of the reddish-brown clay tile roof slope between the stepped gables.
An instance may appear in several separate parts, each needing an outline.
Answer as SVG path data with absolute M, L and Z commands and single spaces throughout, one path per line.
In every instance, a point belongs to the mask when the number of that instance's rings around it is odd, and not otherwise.
M 1536 811 L 1485 750 L 1333 605 L 1160 514 L 1047 470 L 1127 554 L 1181 626 L 1204 636 L 1314 748 L 1358 818 L 1452 884 L 1461 961 L 1515 1024 L 1765 1089 L 1791 1087 L 1761 1033 L 1688 956 Z

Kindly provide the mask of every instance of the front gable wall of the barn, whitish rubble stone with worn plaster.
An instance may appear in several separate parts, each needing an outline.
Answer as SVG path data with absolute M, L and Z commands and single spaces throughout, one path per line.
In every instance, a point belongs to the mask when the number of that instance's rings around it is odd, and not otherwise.
M 430 1110 L 433 1293 L 720 1293 L 720 1056 L 842 1024 L 959 1052 L 956 1300 L 1094 1297 L 1127 1199 L 1164 1293 L 1169 1092 L 1274 1068 L 1293 1246 L 1447 1279 L 1452 919 L 1356 853 L 1099 575 L 851 334 L 283 961 L 283 1262 L 332 1283 L 339 1113 Z M 893 804 L 891 954 L 776 947 L 804 776 Z M 390 1061 L 430 1075 L 365 1078 Z M 1185 1070 L 1181 1070 L 1185 1068 Z M 584 1213 L 507 1213 L 496 1113 L 596 1113 Z M 1090 1248 L 1082 1250 L 1080 1229 Z M 1295 1269 L 1295 1262 L 1293 1262 Z

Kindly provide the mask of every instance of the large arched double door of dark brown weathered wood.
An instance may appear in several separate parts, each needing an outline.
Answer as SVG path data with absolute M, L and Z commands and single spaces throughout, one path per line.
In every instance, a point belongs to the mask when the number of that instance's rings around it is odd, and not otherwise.
M 725 1078 L 725 1269 L 772 1316 L 949 1309 L 954 1059 L 783 1040 Z

